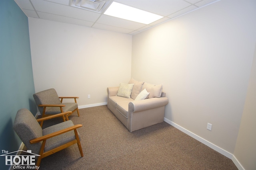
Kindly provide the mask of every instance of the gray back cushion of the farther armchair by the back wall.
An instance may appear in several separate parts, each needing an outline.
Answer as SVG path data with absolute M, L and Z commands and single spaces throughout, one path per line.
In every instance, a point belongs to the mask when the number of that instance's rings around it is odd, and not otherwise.
M 61 104 L 59 96 L 54 88 L 33 94 L 33 97 L 37 106 L 40 104 Z M 38 109 L 42 114 L 44 107 L 38 107 Z M 58 110 L 60 110 L 59 107 Z

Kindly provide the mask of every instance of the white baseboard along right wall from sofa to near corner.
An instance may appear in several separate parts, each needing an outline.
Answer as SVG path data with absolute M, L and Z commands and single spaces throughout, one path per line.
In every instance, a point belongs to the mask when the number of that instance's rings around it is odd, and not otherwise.
M 177 129 L 179 129 L 180 131 L 186 133 L 187 135 L 191 136 L 192 138 L 198 140 L 199 142 L 203 143 L 204 145 L 210 147 L 213 150 L 216 150 L 217 152 L 219 152 L 220 154 L 223 154 L 224 156 L 232 159 L 233 154 L 227 152 L 224 149 L 221 149 L 220 147 L 210 143 L 209 141 L 206 141 L 205 139 L 199 137 L 198 135 L 188 131 L 187 129 L 184 129 L 183 127 L 181 127 L 180 125 L 177 125 L 176 123 L 170 121 L 169 119 L 164 118 L 164 121 L 170 125 L 172 125 L 173 127 L 176 127 Z

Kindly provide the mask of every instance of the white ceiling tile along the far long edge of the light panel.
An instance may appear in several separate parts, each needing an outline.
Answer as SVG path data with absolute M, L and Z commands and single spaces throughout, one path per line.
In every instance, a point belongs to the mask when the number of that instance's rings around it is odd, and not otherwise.
M 127 28 L 127 29 L 132 29 L 132 30 L 139 29 L 146 25 L 143 23 L 124 20 L 121 18 L 116 18 L 116 17 L 112 17 L 112 16 L 108 16 L 108 15 L 100 16 L 100 18 L 97 20 L 96 23 L 102 23 L 105 25 L 111 25 L 111 26 L 115 26 L 115 27 Z

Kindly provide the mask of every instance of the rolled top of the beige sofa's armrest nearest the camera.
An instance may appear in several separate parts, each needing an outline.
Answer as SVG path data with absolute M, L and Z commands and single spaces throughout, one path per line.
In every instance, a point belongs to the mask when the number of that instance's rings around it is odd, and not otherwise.
M 166 106 L 169 100 L 167 97 L 160 97 L 160 98 L 150 98 L 144 100 L 135 100 L 130 102 L 128 105 L 129 112 L 139 112 L 149 109 L 154 109 L 162 106 Z

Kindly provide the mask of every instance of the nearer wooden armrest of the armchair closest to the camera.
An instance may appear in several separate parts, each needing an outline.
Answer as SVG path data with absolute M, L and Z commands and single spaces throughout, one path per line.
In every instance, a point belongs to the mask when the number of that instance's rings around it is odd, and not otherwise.
M 56 132 L 54 132 L 54 133 L 50 133 L 50 134 L 48 134 L 48 135 L 44 135 L 44 136 L 38 137 L 38 138 L 36 138 L 36 139 L 32 139 L 32 140 L 30 140 L 30 143 L 31 143 L 31 144 L 33 144 L 33 143 L 38 143 L 38 142 L 40 142 L 40 141 L 44 141 L 44 140 L 49 139 L 49 138 L 51 138 L 51 137 L 55 137 L 55 136 L 60 135 L 60 134 L 62 134 L 62 133 L 66 133 L 66 132 L 68 132 L 68 131 L 72 131 L 72 130 L 77 129 L 77 128 L 82 127 L 82 126 L 83 126 L 83 125 L 81 125 L 81 124 L 74 125 L 74 126 L 71 126 L 71 127 L 65 128 L 65 129 L 62 129 L 62 130 L 60 130 L 60 131 L 56 131 Z

